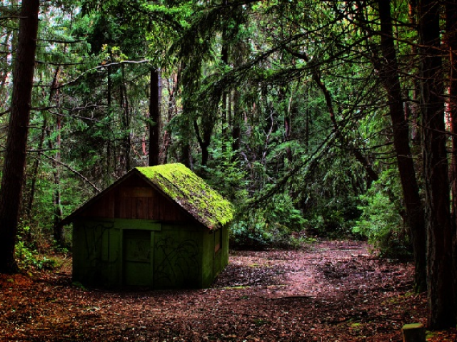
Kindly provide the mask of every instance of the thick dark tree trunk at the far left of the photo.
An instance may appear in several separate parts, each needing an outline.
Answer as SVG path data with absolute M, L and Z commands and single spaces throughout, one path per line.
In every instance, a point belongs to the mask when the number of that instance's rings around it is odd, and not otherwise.
M 14 259 L 19 204 L 24 182 L 31 92 L 34 86 L 39 0 L 23 0 L 13 73 L 8 138 L 0 187 L 0 272 L 17 270 Z

